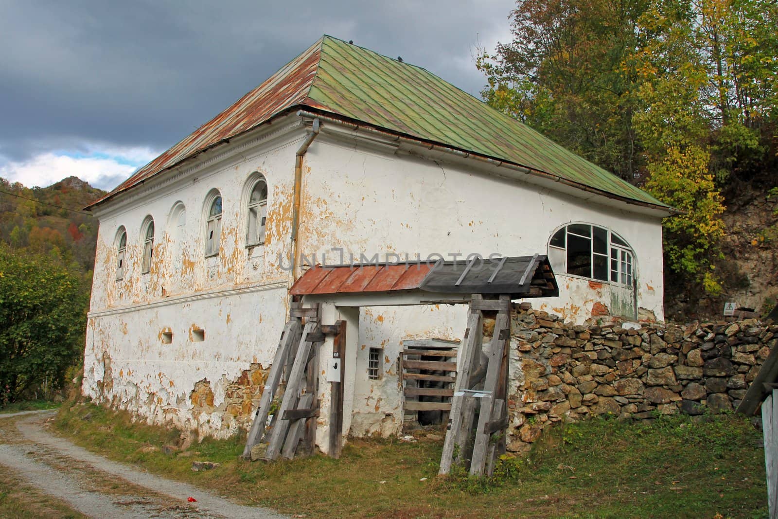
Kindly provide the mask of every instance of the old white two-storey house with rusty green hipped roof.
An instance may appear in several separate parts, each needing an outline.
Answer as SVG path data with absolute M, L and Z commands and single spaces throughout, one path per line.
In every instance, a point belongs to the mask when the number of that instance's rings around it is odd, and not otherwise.
M 219 437 L 250 422 L 302 264 L 548 254 L 560 295 L 534 307 L 664 318 L 671 208 L 426 70 L 331 37 L 90 209 L 84 394 Z M 399 429 L 401 341 L 461 339 L 464 315 L 361 311 L 352 434 Z

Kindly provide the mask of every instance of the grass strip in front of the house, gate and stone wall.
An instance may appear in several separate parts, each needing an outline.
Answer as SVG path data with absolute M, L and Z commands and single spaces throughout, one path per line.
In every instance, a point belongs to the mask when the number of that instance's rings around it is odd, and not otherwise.
M 557 426 L 492 479 L 438 478 L 440 440 L 352 440 L 339 460 L 265 464 L 238 460 L 240 438 L 163 454 L 177 431 L 89 404 L 65 405 L 54 427 L 108 458 L 306 517 L 767 517 L 762 436 L 738 416 Z M 193 460 L 220 465 L 192 472 Z

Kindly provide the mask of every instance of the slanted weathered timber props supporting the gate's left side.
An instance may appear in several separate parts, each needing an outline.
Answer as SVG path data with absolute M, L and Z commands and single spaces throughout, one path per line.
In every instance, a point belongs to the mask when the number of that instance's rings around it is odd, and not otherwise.
M 259 458 L 275 460 L 281 455 L 293 458 L 300 440 L 305 454 L 314 451 L 316 417 L 319 416 L 318 389 L 319 348 L 324 342 L 320 308 L 303 308 L 292 303 L 289 322 L 281 334 L 268 380 L 251 425 L 241 458 L 251 459 L 251 450 L 266 440 L 266 449 Z M 305 324 L 303 326 L 303 318 Z M 267 427 L 268 415 L 279 384 L 286 375 L 286 388 L 281 406 Z

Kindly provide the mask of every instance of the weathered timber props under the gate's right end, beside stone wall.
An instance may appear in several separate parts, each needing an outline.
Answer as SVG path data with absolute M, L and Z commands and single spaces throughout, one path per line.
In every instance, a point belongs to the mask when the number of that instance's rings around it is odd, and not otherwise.
M 484 314 L 494 312 L 492 341 L 484 345 Z M 505 453 L 509 343 L 510 296 L 484 299 L 473 295 L 440 458 L 440 474 L 448 474 L 453 463 L 467 468 L 469 462 L 472 475 L 491 475 L 497 457 Z

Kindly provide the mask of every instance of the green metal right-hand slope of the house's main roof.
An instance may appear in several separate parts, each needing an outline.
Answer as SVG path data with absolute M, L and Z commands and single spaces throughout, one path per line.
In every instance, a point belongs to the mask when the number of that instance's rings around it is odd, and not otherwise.
M 321 109 L 668 207 L 424 68 L 325 36 L 308 94 Z

